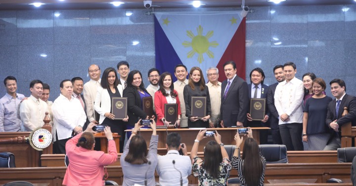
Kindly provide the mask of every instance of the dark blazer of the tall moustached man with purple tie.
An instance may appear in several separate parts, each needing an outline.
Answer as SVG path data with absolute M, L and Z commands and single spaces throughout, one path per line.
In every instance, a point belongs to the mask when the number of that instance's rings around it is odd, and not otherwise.
M 235 76 L 227 91 L 226 99 L 223 98 L 227 79 L 222 83 L 221 92 L 221 117 L 225 127 L 236 126 L 236 122 L 246 123 L 246 114 L 249 110 L 248 86 L 241 77 Z

